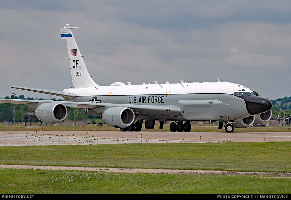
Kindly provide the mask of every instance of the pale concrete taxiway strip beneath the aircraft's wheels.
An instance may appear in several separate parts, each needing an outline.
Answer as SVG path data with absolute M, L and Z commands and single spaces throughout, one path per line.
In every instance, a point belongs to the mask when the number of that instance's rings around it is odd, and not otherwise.
M 201 140 L 200 140 L 201 136 Z M 118 132 L 118 131 L 15 131 L 0 133 L 1 146 L 198 143 L 198 142 L 277 142 L 291 141 L 286 132 Z

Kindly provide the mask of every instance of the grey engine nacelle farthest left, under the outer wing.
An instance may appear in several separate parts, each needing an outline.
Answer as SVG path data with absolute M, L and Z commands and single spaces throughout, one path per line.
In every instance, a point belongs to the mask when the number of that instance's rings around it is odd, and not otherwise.
M 46 123 L 56 124 L 62 122 L 68 114 L 66 106 L 61 103 L 42 103 L 36 108 L 36 117 Z

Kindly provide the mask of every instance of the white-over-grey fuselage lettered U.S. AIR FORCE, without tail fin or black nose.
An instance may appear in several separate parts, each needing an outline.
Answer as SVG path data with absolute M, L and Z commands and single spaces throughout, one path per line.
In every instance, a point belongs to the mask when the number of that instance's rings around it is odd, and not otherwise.
M 234 92 L 241 90 L 252 92 L 243 85 L 229 82 L 181 82 L 142 85 L 113 83 L 109 86 L 65 89 L 63 92 L 77 96 L 74 99 L 65 98 L 68 101 L 130 105 L 172 105 L 178 106 L 184 112 L 184 115 L 182 113 L 182 116 L 178 117 L 178 119 L 169 118 L 166 120 L 228 121 L 250 116 L 246 110 L 244 100 L 234 95 Z M 220 104 L 216 106 L 214 104 L 209 105 L 209 103 L 206 102 L 205 104 L 201 100 L 207 102 L 208 100 L 216 100 Z M 192 106 L 193 108 L 191 107 L 191 101 L 195 101 L 193 105 L 196 106 Z M 185 106 L 185 102 L 188 106 Z M 197 107 L 197 103 L 200 103 L 198 104 L 200 106 Z M 218 110 L 219 114 L 217 114 Z M 160 116 L 155 117 L 157 120 L 159 118 Z M 145 119 L 148 119 L 148 117 L 145 117 Z

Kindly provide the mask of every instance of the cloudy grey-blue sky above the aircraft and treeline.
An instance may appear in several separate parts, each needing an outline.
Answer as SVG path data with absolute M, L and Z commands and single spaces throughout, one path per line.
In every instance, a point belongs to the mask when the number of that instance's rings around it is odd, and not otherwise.
M 0 0 L 0 97 L 72 87 L 59 28 L 69 23 L 99 85 L 228 81 L 291 96 L 290 1 Z M 53 98 L 53 97 L 52 97 Z M 57 97 L 59 98 L 59 97 Z

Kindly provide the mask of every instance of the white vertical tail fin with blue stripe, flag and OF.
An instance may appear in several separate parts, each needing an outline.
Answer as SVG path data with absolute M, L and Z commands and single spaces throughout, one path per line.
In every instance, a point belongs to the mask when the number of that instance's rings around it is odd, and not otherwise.
M 74 27 L 81 28 L 81 27 Z M 95 87 L 99 86 L 97 83 L 93 81 L 91 76 L 89 75 L 86 65 L 83 61 L 77 43 L 74 39 L 69 24 L 66 24 L 64 28 L 60 28 L 61 30 L 61 39 L 66 39 L 67 47 L 68 47 L 68 56 L 71 68 L 72 82 L 73 88 L 86 88 L 86 87 Z

